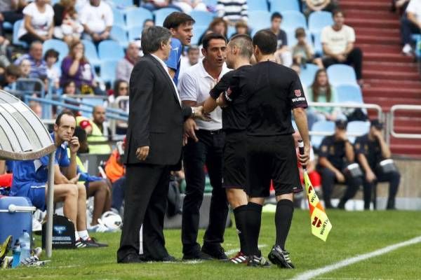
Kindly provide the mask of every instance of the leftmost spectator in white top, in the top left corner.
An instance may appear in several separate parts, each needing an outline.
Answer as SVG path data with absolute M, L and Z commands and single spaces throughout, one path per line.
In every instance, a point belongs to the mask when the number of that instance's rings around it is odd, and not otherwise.
M 18 38 L 29 45 L 33 41 L 46 41 L 53 38 L 54 10 L 48 1 L 35 0 L 26 6 L 22 13 L 24 22 L 20 25 Z

